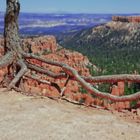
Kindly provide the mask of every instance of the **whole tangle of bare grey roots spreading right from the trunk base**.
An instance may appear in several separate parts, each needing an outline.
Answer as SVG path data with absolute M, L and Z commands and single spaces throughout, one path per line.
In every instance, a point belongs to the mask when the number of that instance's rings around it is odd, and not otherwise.
M 46 74 L 50 77 L 58 78 L 58 79 L 66 78 L 66 76 L 69 75 L 69 78 L 67 79 L 66 84 L 65 84 L 65 86 L 62 90 L 60 89 L 60 87 L 56 83 L 51 83 L 51 82 L 48 82 L 48 81 L 45 81 L 45 80 L 40 80 L 40 78 L 38 78 L 38 77 L 28 75 L 28 77 L 30 77 L 34 80 L 37 80 L 37 81 L 45 83 L 45 84 L 49 84 L 51 86 L 54 86 L 62 96 L 64 94 L 64 91 L 65 91 L 65 88 L 66 88 L 66 85 L 67 85 L 68 81 L 70 79 L 73 79 L 73 80 L 78 81 L 79 84 L 81 84 L 81 86 L 83 86 L 89 93 L 91 93 L 93 95 L 96 95 L 97 97 L 100 97 L 100 98 L 106 98 L 106 99 L 109 99 L 109 100 L 115 101 L 115 102 L 133 101 L 133 100 L 140 99 L 140 92 L 137 92 L 137 93 L 132 94 L 132 95 L 114 96 L 114 95 L 111 95 L 109 93 L 101 92 L 101 91 L 95 89 L 90 84 L 90 83 L 94 83 L 94 82 L 98 83 L 98 82 L 117 82 L 117 81 L 140 82 L 140 76 L 139 75 L 124 74 L 124 75 L 112 75 L 112 76 L 82 77 L 78 74 L 78 72 L 75 69 L 68 66 L 67 64 L 56 62 L 56 61 L 51 61 L 51 60 L 46 60 L 46 59 L 40 58 L 40 57 L 38 57 L 36 55 L 33 55 L 33 54 L 24 53 L 24 57 L 31 58 L 31 59 L 37 59 L 37 60 L 39 60 L 41 62 L 44 62 L 46 64 L 61 67 L 62 70 L 64 71 L 64 73 L 55 74 L 55 73 L 53 73 L 49 70 L 45 70 L 45 69 L 43 69 L 39 66 L 29 64 L 29 62 L 25 64 L 23 60 L 19 60 L 17 64 L 21 67 L 21 69 L 17 73 L 17 75 L 14 77 L 12 82 L 9 84 L 8 89 L 14 88 L 16 86 L 17 82 L 27 72 L 27 67 L 28 67 L 29 69 L 32 69 L 36 72 L 40 72 L 40 73 Z M 7 61 L 7 62 L 9 62 L 9 61 Z M 88 82 L 90 82 L 90 83 L 88 83 Z

